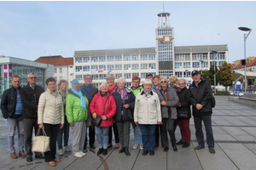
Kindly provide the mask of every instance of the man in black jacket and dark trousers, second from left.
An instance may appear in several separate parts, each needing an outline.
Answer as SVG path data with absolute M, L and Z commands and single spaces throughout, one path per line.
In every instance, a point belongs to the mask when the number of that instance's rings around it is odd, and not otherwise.
M 35 73 L 27 75 L 27 85 L 20 89 L 20 99 L 23 105 L 24 143 L 26 161 L 32 161 L 32 132 L 33 127 L 38 133 L 38 99 L 44 93 L 44 88 L 36 85 L 38 77 Z M 36 158 L 44 158 L 41 153 L 35 153 Z

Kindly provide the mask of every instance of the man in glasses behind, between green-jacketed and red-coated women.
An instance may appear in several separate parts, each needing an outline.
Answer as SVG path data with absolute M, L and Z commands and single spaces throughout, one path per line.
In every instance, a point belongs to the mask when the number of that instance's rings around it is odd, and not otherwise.
M 84 76 L 84 84 L 82 86 L 80 86 L 81 91 L 84 92 L 86 98 L 89 101 L 89 105 L 90 105 L 90 101 L 93 99 L 93 97 L 95 96 L 95 94 L 98 93 L 98 88 L 96 88 L 95 86 L 93 86 L 91 84 L 92 82 L 92 77 L 88 74 Z M 90 114 L 90 113 L 89 113 Z M 91 116 L 91 115 L 90 115 Z M 94 150 L 95 149 L 95 127 L 93 125 L 91 125 L 89 127 L 89 144 L 90 144 L 90 149 Z M 86 138 L 84 140 L 84 150 L 86 150 L 86 145 L 87 145 L 87 135 Z

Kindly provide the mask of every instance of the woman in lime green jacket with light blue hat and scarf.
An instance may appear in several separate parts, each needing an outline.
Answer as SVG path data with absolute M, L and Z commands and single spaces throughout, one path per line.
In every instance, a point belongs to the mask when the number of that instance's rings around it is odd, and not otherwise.
M 83 91 L 79 89 L 79 80 L 74 79 L 71 82 L 72 88 L 68 90 L 66 99 L 67 122 L 73 131 L 72 149 L 73 156 L 85 156 L 83 152 L 84 139 L 86 136 L 86 120 L 88 114 L 88 99 Z

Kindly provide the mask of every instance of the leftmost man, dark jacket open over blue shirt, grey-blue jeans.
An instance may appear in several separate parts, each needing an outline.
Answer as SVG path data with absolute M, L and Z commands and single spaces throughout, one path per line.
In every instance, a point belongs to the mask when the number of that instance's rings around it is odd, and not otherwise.
M 15 151 L 15 130 L 18 128 L 18 147 L 19 156 L 26 157 L 24 151 L 24 127 L 22 120 L 22 104 L 20 100 L 20 77 L 13 76 L 12 87 L 3 92 L 1 100 L 1 110 L 3 118 L 8 122 L 8 144 L 10 156 L 13 159 L 17 159 Z

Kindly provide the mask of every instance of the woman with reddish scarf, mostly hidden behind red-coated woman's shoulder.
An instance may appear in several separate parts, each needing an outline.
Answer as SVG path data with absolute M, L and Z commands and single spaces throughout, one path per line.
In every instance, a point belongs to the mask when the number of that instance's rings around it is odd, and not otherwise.
M 114 83 L 114 75 L 108 74 L 106 76 L 106 80 L 108 83 L 108 93 L 112 94 L 113 92 L 115 92 L 115 89 L 117 88 Z M 118 149 L 119 148 L 119 131 L 118 131 L 118 129 L 116 127 L 116 123 L 114 121 L 113 121 L 113 126 L 109 127 L 109 130 L 108 130 L 108 148 L 111 148 L 113 146 L 113 144 L 112 144 L 112 127 L 113 127 L 114 139 L 115 139 L 114 148 Z

